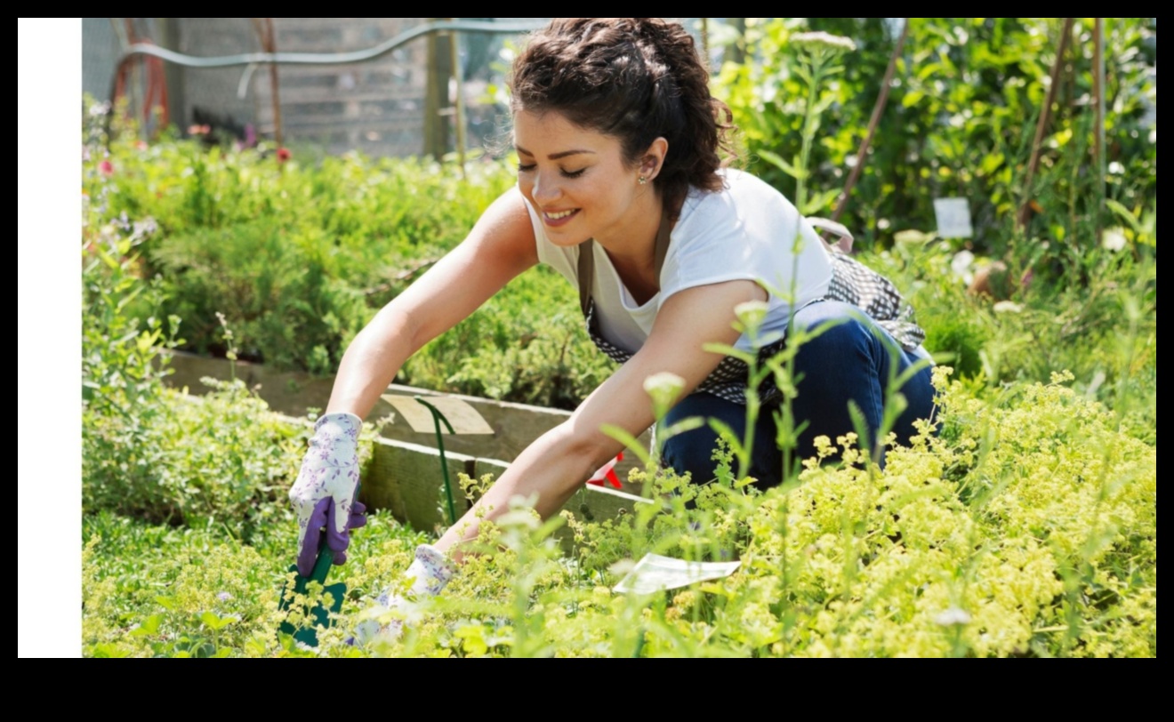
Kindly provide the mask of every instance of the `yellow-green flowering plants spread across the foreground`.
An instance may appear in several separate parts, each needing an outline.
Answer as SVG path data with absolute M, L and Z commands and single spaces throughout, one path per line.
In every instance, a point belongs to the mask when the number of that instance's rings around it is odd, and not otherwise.
M 90 517 L 85 653 L 1156 655 L 1155 450 L 1070 389 L 1071 375 L 997 400 L 942 378 L 940 437 L 892 448 L 884 472 L 862 463 L 849 434 L 843 465 L 809 463 L 799 484 L 768 492 L 728 472 L 702 490 L 662 473 L 643 477 L 655 504 L 616 519 L 564 512 L 540 525 L 522 505 L 483 525 L 483 553 L 382 648 L 343 639 L 420 541 L 384 517 L 355 534 L 343 615 L 317 649 L 276 633 L 294 525 L 244 546 L 214 529 Z M 831 451 L 824 439 L 821 453 Z M 551 538 L 561 522 L 569 558 Z M 648 552 L 742 566 L 676 592 L 613 593 Z

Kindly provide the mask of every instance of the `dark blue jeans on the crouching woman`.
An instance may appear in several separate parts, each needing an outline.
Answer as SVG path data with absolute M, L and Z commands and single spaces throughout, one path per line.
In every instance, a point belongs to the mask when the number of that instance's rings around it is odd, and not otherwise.
M 888 331 L 864 317 L 859 309 L 845 303 L 822 301 L 811 304 L 795 315 L 794 323 L 797 328 L 811 330 L 821 324 L 834 325 L 799 346 L 795 357 L 795 373 L 801 380 L 796 384 L 798 394 L 791 402 L 791 410 L 796 426 L 803 421 L 808 426 L 798 434 L 792 463 L 815 456 L 812 440 L 817 436 L 826 436 L 835 444 L 836 437 L 855 431 L 849 400 L 859 406 L 872 444 L 876 444 L 890 373 L 896 378 L 927 355 L 904 351 Z M 931 417 L 931 375 L 932 367 L 926 365 L 899 389 L 909 403 L 891 430 L 896 432 L 899 444 L 908 444 L 916 433 L 915 420 Z M 776 443 L 774 418 L 777 407 L 777 403 L 764 405 L 754 429 L 749 473 L 762 487 L 776 486 L 783 478 L 783 456 Z M 663 424 L 667 426 L 688 417 L 720 419 L 740 439 L 745 438 L 745 406 L 740 404 L 704 392 L 693 393 L 668 412 Z M 708 424 L 687 431 L 666 441 L 664 463 L 677 473 L 690 472 L 697 484 L 711 481 L 716 466 L 711 458 L 716 441 L 717 433 Z M 884 458 L 879 461 L 884 464 Z M 736 459 L 734 472 L 737 473 Z

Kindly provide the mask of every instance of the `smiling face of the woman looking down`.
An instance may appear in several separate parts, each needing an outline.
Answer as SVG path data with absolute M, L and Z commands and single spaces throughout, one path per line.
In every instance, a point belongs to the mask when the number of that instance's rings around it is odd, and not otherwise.
M 560 247 L 621 241 L 633 221 L 660 216 L 653 184 L 623 161 L 620 141 L 580 128 L 555 112 L 514 114 L 518 188 Z

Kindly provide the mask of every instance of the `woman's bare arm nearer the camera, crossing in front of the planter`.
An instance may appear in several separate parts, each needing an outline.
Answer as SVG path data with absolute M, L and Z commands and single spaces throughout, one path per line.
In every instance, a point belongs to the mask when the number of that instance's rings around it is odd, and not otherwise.
M 707 343 L 734 344 L 734 308 L 747 301 L 764 301 L 767 292 L 750 281 L 730 281 L 680 291 L 668 298 L 656 316 L 643 347 L 600 385 L 569 419 L 531 444 L 501 474 L 477 505 L 452 526 L 437 547 L 456 559 L 452 549 L 475 538 L 478 512 L 493 519 L 508 510 L 514 495 L 538 494 L 542 518 L 558 512 L 582 483 L 622 450 L 600 427 L 610 424 L 639 436 L 653 421 L 645 379 L 669 371 L 684 379 L 683 398 L 717 367 L 722 357 L 702 350 Z

